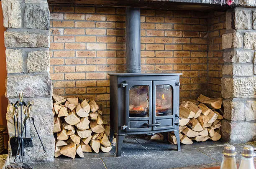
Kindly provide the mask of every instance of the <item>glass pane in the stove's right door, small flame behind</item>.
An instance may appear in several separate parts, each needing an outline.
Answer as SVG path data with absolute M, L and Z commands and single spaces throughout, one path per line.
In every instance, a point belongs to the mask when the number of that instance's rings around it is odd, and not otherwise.
M 156 85 L 156 116 L 171 116 L 172 113 L 172 86 Z

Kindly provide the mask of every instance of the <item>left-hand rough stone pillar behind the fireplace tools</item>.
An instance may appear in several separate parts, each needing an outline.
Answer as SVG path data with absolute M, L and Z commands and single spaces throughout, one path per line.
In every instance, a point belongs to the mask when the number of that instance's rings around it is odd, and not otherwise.
M 25 149 L 23 161 L 53 161 L 55 140 L 52 135 L 52 86 L 50 78 L 50 13 L 47 0 L 2 0 L 6 46 L 6 97 L 9 103 L 18 100 L 33 103 L 31 116 L 46 153 L 40 144 L 31 120 L 27 136 L 33 137 L 33 147 Z M 24 116 L 24 114 L 23 114 Z M 9 137 L 14 135 L 13 112 L 9 105 L 6 114 Z M 24 117 L 23 117 L 24 119 Z M 9 154 L 11 155 L 10 145 Z M 13 157 L 10 157 L 13 162 Z

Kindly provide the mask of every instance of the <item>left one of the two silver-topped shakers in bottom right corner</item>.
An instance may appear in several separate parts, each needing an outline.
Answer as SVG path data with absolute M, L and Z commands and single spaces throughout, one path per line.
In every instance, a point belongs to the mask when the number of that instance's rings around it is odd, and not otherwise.
M 236 148 L 233 145 L 227 145 L 224 147 L 223 159 L 220 169 L 237 169 L 236 166 Z

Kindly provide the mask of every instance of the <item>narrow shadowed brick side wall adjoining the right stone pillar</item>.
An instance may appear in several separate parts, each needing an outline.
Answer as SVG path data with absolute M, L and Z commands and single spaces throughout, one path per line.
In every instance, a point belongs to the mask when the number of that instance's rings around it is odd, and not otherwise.
M 221 97 L 223 49 L 221 36 L 226 32 L 225 12 L 210 13 L 208 27 L 208 96 Z

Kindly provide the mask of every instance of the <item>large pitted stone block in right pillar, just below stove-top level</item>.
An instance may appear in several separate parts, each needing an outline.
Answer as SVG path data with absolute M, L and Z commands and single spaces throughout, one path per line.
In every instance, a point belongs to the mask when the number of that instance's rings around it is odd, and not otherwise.
M 233 77 L 221 78 L 221 94 L 223 98 L 253 98 L 256 78 Z

